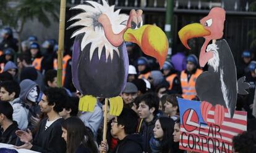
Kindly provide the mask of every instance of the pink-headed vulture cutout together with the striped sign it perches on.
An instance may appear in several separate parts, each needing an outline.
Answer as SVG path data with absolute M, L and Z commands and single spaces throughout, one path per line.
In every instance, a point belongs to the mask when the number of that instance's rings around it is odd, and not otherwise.
M 199 64 L 208 63 L 208 71 L 195 83 L 199 101 L 178 98 L 181 113 L 180 148 L 195 152 L 232 152 L 232 138 L 246 130 L 247 113 L 235 111 L 237 93 L 245 95 L 249 84 L 245 77 L 237 80 L 236 65 L 223 37 L 225 10 L 214 7 L 200 20 L 184 26 L 179 38 L 187 49 L 187 41 L 204 37 Z M 216 41 L 218 39 L 218 41 Z M 208 43 L 212 41 L 212 44 Z M 194 141 L 193 141 L 194 140 Z M 201 143 L 202 142 L 202 143 Z

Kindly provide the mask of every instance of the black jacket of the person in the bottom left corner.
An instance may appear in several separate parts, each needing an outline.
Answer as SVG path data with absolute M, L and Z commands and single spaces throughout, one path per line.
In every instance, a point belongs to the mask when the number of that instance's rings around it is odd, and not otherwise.
M 3 129 L 0 129 L 0 143 L 6 143 L 6 144 L 13 144 L 17 145 L 18 138 L 15 134 L 15 131 L 19 130 L 17 122 L 13 122 L 6 131 L 3 131 Z

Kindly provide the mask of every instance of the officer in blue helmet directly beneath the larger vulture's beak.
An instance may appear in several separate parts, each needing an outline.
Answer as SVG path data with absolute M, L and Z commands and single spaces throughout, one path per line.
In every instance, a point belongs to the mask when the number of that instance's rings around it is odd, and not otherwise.
M 145 57 L 140 57 L 137 61 L 138 71 L 139 71 L 139 79 L 148 79 L 150 76 L 150 68 L 148 59 Z

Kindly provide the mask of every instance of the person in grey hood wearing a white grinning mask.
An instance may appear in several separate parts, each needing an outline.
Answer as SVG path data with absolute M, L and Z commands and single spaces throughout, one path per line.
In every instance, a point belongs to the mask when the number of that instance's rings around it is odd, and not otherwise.
M 36 120 L 40 114 L 40 106 L 38 106 L 38 98 L 40 96 L 40 88 L 33 80 L 25 79 L 20 82 L 20 100 L 25 104 L 28 111 L 28 128 L 33 130 L 36 126 Z

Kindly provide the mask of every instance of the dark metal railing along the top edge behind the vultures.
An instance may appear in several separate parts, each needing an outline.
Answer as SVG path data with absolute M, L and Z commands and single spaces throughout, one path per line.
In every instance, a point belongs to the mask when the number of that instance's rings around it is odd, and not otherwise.
M 94 0 L 101 2 L 101 0 Z M 160 9 L 166 7 L 167 1 L 171 0 L 107 0 L 110 5 L 121 7 L 137 7 L 140 9 Z M 85 0 L 69 0 L 70 4 L 84 4 Z M 229 11 L 249 12 L 250 2 L 247 0 L 175 0 L 175 9 L 188 9 L 188 10 L 209 10 L 212 7 L 223 7 Z M 127 9 L 128 9 L 127 8 Z

